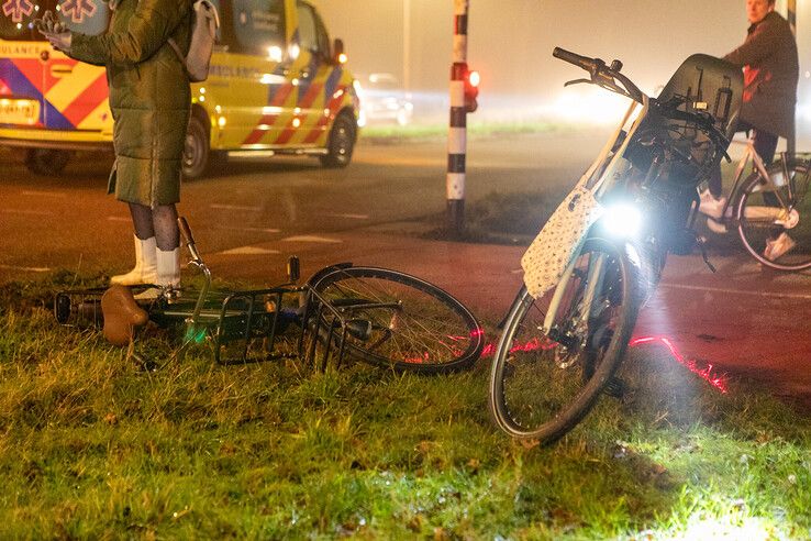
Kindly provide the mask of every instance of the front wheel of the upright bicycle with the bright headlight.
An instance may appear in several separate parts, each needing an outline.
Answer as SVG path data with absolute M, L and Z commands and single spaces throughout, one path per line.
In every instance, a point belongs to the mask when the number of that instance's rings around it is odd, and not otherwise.
M 569 268 L 549 332 L 542 329 L 554 291 L 536 300 L 524 287 L 499 340 L 489 408 L 514 438 L 548 443 L 571 430 L 616 371 L 633 330 L 632 274 L 616 246 L 589 239 Z

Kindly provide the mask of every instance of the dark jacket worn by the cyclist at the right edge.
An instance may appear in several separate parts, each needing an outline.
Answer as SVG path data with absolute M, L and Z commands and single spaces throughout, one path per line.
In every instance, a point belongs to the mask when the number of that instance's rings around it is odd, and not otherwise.
M 788 21 L 770 12 L 724 59 L 744 68 L 741 120 L 774 135 L 792 134 L 799 63 Z

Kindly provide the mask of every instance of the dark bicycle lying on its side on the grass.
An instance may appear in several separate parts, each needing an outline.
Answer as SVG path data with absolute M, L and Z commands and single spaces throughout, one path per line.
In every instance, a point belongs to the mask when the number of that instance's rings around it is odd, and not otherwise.
M 484 333 L 473 313 L 440 287 L 399 270 L 341 263 L 299 285 L 299 263 L 288 262 L 289 280 L 268 288 L 212 290 L 186 220 L 178 220 L 203 275 L 199 289 L 112 286 L 62 291 L 54 311 L 59 323 L 96 327 L 114 345 L 130 345 L 143 367 L 154 369 L 208 345 L 218 364 L 285 357 L 346 357 L 400 372 L 440 374 L 465 369 L 481 354 Z M 136 344 L 149 325 L 175 330 L 179 340 L 166 360 L 148 358 Z M 320 352 L 316 358 L 316 351 Z

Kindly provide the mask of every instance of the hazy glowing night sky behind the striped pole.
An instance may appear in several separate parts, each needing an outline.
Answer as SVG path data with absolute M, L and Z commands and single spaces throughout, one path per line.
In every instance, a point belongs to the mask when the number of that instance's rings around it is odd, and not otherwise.
M 311 0 L 330 36 L 346 45 L 356 74 L 403 78 L 403 1 Z M 413 90 L 447 88 L 453 0 L 410 0 L 410 82 Z M 800 93 L 808 91 L 811 1 L 798 0 Z M 786 2 L 778 0 L 785 16 Z M 558 45 L 606 60 L 651 90 L 693 53 L 724 55 L 741 43 L 745 0 L 470 0 L 468 64 L 482 76 L 481 95 L 556 96 L 580 71 L 552 57 Z M 804 29 L 804 31 L 803 31 Z

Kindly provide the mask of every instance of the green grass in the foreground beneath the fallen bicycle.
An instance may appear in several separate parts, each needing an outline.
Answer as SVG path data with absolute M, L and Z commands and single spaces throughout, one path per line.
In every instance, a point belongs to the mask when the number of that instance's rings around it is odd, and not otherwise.
M 0 288 L 0 539 L 811 538 L 809 418 L 659 349 L 540 448 L 490 423 L 487 361 L 319 374 L 202 349 L 142 373 L 55 324 L 71 281 Z

